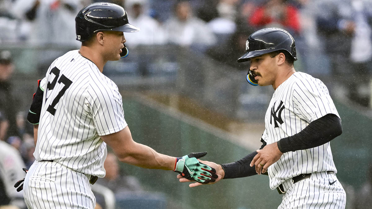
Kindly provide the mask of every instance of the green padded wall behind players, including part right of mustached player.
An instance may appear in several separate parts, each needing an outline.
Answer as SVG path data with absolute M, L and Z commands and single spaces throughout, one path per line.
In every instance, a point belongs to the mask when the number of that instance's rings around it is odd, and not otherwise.
M 170 114 L 132 99 L 124 99 L 123 105 L 133 139 L 163 154 L 182 156 L 208 151 L 202 160 L 228 163 L 253 151 L 232 143 L 227 134 L 214 134 L 215 129 L 208 125 L 182 118 L 189 118 L 185 115 Z M 343 124 L 343 134 L 331 141 L 337 176 L 345 186 L 357 190 L 365 181 L 370 164 L 372 132 L 368 130 L 372 120 L 342 103 L 336 102 L 336 107 Z M 171 171 L 121 165 L 126 173 L 137 176 L 146 190 L 163 192 L 184 208 L 276 208 L 281 202 L 281 196 L 269 189 L 268 177 L 263 175 L 189 188 L 188 184 L 179 183 Z M 350 196 L 347 198 L 349 208 L 352 202 Z

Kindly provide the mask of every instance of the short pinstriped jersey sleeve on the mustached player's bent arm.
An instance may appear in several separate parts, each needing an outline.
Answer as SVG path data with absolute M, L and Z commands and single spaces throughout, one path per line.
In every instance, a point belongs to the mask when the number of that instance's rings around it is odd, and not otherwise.
M 294 111 L 300 118 L 312 122 L 327 114 L 339 113 L 327 87 L 319 79 L 296 82 L 293 92 Z

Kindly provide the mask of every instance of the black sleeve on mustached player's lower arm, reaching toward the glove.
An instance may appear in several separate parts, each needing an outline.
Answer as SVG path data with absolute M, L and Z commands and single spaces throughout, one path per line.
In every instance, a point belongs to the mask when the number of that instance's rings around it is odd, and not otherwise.
M 260 149 L 266 145 L 266 142 L 263 141 L 263 139 L 261 139 L 261 142 L 262 146 Z M 257 154 L 258 153 L 254 151 L 246 157 L 243 157 L 241 160 L 235 161 L 234 163 L 221 164 L 222 169 L 225 171 L 224 179 L 234 179 L 256 175 L 256 168 L 251 167 L 249 164 Z

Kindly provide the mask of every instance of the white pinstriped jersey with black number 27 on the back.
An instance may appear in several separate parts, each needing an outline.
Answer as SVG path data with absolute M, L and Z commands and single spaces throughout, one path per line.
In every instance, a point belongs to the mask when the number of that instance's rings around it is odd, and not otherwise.
M 80 173 L 105 176 L 102 135 L 127 125 L 116 84 L 78 50 L 49 67 L 34 156 Z

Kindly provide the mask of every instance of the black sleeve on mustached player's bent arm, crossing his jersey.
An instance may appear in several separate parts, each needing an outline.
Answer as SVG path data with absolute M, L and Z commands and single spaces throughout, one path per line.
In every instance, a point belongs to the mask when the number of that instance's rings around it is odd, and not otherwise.
M 310 149 L 323 145 L 342 134 L 341 120 L 334 114 L 327 114 L 311 122 L 293 136 L 278 141 L 280 152 Z

